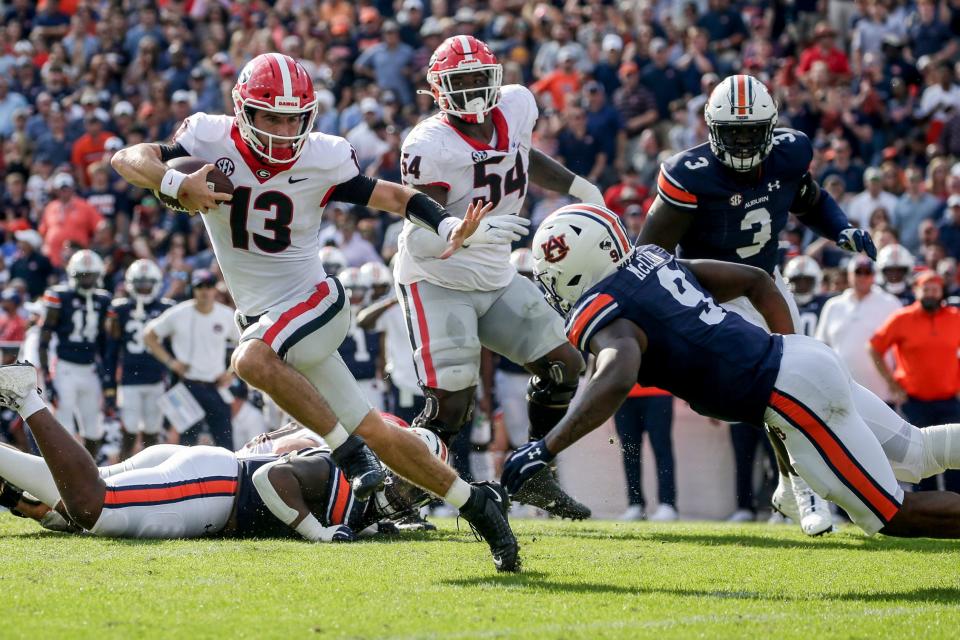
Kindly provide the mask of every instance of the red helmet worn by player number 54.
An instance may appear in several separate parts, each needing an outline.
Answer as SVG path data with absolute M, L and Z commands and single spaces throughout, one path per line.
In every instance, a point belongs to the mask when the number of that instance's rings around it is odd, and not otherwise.
M 460 76 L 478 71 L 486 75 L 485 85 L 467 86 L 456 81 Z M 441 111 L 466 122 L 483 122 L 500 104 L 503 67 L 481 40 L 473 36 L 451 36 L 430 57 L 427 82 Z

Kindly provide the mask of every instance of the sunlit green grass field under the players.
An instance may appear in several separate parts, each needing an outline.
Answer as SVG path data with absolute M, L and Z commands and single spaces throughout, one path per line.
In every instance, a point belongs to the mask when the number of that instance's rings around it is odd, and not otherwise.
M 0 516 L 0 638 L 956 638 L 960 543 L 519 521 L 524 572 L 443 520 L 391 541 L 143 542 Z

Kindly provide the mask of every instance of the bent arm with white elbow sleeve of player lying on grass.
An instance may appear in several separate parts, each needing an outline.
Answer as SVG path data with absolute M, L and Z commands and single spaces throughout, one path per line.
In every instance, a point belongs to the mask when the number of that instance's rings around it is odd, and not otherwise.
M 307 503 L 310 494 L 321 492 L 330 481 L 327 469 L 321 458 L 285 456 L 257 469 L 253 486 L 270 512 L 307 540 L 349 542 L 354 539 L 349 527 L 324 527 Z

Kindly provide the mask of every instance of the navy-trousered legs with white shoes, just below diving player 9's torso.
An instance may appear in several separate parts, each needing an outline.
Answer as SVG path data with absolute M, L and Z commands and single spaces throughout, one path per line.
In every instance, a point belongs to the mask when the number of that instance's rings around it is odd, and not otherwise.
M 642 520 L 646 515 L 643 496 L 643 432 L 647 432 L 657 465 L 657 510 L 649 520 L 676 520 L 677 489 L 674 482 L 673 460 L 673 396 L 666 391 L 634 385 L 613 416 L 620 436 L 623 469 L 627 476 L 629 506 L 621 520 Z

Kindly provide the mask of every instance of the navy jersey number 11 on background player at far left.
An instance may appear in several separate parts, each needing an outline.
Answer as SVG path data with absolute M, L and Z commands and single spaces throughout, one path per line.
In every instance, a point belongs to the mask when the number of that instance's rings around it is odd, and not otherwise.
M 88 300 L 86 295 L 61 284 L 47 289 L 43 302 L 48 310 L 44 326 L 57 336 L 57 359 L 74 364 L 96 362 L 104 346 L 110 294 L 95 289 Z M 56 324 L 49 320 L 52 310 L 59 311 Z

